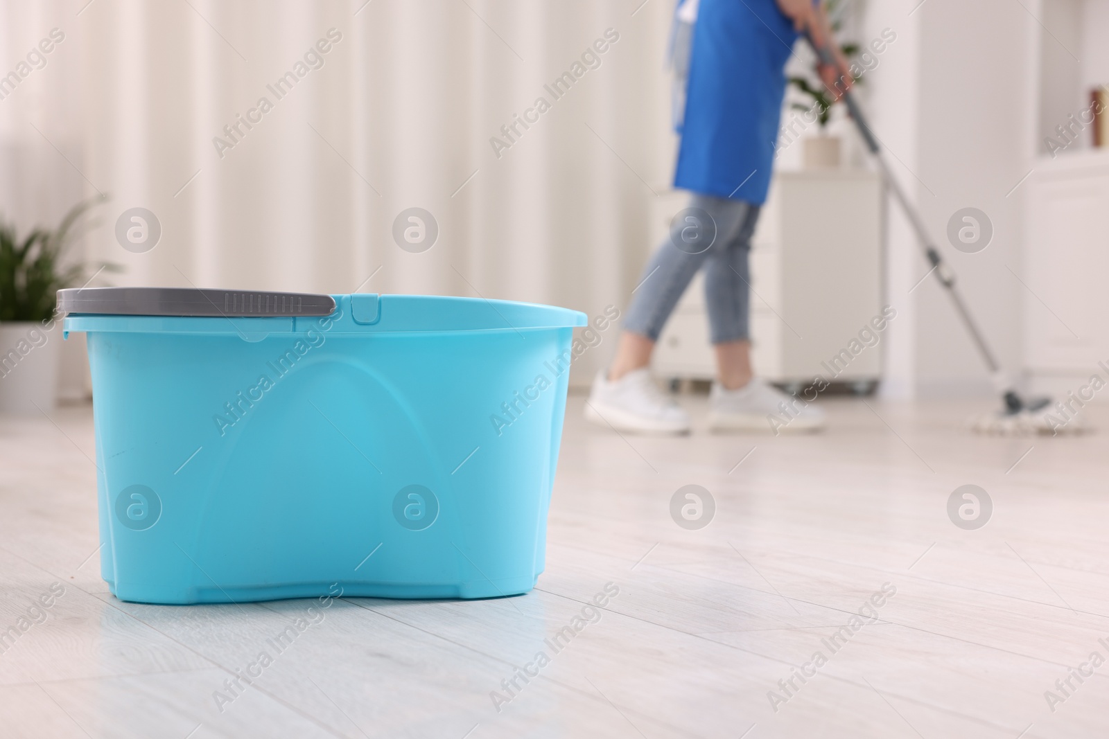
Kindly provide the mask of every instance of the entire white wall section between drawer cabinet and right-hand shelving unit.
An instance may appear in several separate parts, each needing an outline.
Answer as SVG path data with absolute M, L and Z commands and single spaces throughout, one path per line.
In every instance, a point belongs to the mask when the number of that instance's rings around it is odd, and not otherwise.
M 871 75 L 867 107 L 995 353 L 1019 372 L 1024 288 L 1009 269 L 1021 274 L 1020 201 L 1007 194 L 1029 161 L 1026 11 L 1005 0 L 927 0 L 913 11 L 916 4 L 874 0 L 868 6 L 868 32 L 889 27 L 898 40 Z M 990 245 L 973 255 L 956 250 L 946 237 L 948 218 L 968 206 L 984 211 L 994 225 Z M 888 299 L 905 311 L 887 345 L 887 392 L 993 392 L 939 284 L 929 278 L 909 294 L 928 265 L 917 256 L 896 205 L 889 207 Z

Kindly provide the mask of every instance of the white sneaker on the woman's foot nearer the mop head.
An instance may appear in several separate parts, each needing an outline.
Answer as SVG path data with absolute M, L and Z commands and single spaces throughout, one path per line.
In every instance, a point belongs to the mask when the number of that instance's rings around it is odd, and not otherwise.
M 787 431 L 818 431 L 824 428 L 824 411 L 760 378 L 736 390 L 713 382 L 709 393 L 709 428 L 761 431 L 775 437 Z

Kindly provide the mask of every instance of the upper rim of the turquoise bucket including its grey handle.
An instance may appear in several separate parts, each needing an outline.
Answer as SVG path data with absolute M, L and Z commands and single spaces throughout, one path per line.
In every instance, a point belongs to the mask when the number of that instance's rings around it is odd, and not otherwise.
M 235 333 L 247 340 L 323 327 L 330 333 L 523 331 L 587 326 L 584 314 L 531 302 L 436 295 L 315 295 L 192 288 L 58 291 L 63 333 Z

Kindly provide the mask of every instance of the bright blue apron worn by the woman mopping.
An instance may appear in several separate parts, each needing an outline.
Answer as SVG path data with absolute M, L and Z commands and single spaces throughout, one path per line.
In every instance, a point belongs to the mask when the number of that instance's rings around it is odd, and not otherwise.
M 701 0 L 674 187 L 766 201 L 796 40 L 774 0 Z

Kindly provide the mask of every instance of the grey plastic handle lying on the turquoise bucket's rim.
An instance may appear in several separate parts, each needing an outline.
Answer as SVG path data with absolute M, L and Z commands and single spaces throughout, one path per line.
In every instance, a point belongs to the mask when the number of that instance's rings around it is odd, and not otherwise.
M 58 311 L 111 316 L 329 316 L 335 298 L 313 292 L 190 287 L 82 287 L 58 290 Z

